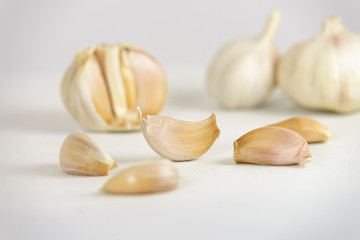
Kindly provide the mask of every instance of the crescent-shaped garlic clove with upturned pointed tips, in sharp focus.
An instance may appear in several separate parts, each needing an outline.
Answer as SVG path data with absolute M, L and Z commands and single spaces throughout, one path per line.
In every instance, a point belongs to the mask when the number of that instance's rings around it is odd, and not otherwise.
M 140 118 L 143 134 L 150 147 L 172 161 L 188 161 L 203 155 L 220 135 L 214 113 L 200 122 L 185 122 L 157 115 L 142 117 L 141 112 Z

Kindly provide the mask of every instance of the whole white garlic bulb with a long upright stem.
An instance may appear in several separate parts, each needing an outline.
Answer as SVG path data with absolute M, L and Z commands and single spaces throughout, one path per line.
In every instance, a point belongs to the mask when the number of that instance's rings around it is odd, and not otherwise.
M 263 103 L 275 82 L 278 53 L 273 40 L 280 12 L 273 11 L 260 37 L 236 39 L 220 49 L 208 74 L 208 89 L 227 108 Z

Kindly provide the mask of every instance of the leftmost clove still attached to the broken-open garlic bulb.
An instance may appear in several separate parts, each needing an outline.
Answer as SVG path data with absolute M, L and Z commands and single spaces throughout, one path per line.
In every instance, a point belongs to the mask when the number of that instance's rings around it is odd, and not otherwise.
M 84 127 L 106 128 L 113 114 L 105 79 L 95 56 L 94 48 L 76 54 L 66 72 L 61 95 L 65 106 Z

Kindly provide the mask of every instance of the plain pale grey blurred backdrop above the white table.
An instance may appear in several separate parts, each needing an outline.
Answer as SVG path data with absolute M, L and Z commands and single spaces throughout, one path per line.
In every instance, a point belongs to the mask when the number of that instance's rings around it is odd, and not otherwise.
M 354 0 L 2 0 L 0 69 L 2 75 L 57 73 L 60 78 L 77 51 L 124 42 L 153 54 L 172 81 L 177 74 L 172 68 L 189 75 L 193 69 L 204 72 L 222 44 L 260 34 L 272 9 L 283 15 L 275 41 L 284 53 L 318 34 L 332 15 L 360 32 L 359 8 Z

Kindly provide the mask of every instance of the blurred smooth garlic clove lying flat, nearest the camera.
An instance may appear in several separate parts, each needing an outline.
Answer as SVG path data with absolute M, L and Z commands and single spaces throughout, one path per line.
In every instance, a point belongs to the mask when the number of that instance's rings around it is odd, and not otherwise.
M 121 171 L 102 190 L 122 194 L 163 192 L 176 188 L 179 180 L 179 172 L 172 164 L 143 163 Z

